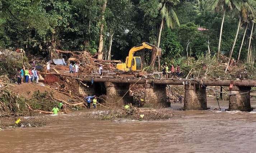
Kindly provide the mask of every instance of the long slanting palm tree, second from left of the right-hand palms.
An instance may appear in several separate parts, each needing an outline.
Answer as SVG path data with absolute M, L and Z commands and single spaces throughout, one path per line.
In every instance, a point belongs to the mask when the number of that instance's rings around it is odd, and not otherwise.
M 234 13 L 236 13 L 236 11 L 239 13 L 239 22 L 238 22 L 238 26 L 237 26 L 236 37 L 235 37 L 235 40 L 234 40 L 234 43 L 233 43 L 233 46 L 232 46 L 232 49 L 231 49 L 231 52 L 230 52 L 230 55 L 229 55 L 228 64 L 227 64 L 225 72 L 227 72 L 227 70 L 228 70 L 229 62 L 231 60 L 234 47 L 236 45 L 236 40 L 237 40 L 239 28 L 241 26 L 241 18 L 242 18 L 243 22 L 247 23 L 248 22 L 248 19 L 247 19 L 248 14 L 250 14 L 250 13 L 255 14 L 255 10 L 253 8 L 253 5 L 255 3 L 253 3 L 253 2 L 255 2 L 255 1 L 254 0 L 251 0 L 251 1 L 242 1 L 241 0 L 241 1 L 238 1 L 238 3 L 233 3 L 234 8 L 235 8 Z M 240 55 L 240 51 L 239 51 L 239 55 Z

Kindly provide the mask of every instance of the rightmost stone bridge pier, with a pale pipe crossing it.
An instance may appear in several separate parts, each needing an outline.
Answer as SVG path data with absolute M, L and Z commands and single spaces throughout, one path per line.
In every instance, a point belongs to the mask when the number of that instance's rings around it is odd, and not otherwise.
M 230 93 L 237 95 L 229 95 L 229 107 L 227 110 L 252 111 L 253 108 L 251 108 L 250 103 L 250 91 L 251 87 L 233 86 L 232 89 L 230 89 Z

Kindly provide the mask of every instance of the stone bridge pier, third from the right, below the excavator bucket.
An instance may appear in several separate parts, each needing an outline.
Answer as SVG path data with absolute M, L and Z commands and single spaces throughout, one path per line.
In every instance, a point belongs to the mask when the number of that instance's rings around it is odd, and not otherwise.
M 145 107 L 169 107 L 170 102 L 166 101 L 166 85 L 144 84 Z

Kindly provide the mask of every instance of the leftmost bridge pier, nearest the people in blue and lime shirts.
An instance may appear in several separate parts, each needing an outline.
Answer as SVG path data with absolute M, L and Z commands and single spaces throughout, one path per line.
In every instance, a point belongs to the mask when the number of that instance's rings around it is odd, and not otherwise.
M 107 103 L 107 105 L 121 107 L 133 102 L 133 96 L 129 96 L 130 83 L 105 82 L 104 85 L 106 87 L 106 95 L 102 96 L 102 98 L 105 102 L 110 103 Z

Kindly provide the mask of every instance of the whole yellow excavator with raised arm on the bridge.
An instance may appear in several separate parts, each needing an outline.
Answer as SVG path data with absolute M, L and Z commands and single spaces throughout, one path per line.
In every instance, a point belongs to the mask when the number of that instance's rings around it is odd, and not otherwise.
M 141 58 L 138 56 L 133 56 L 133 54 L 137 51 L 140 51 L 141 49 L 148 48 L 148 49 L 154 49 L 156 52 L 156 56 L 160 55 L 162 53 L 161 48 L 157 48 L 152 44 L 149 43 L 142 43 L 138 46 L 134 46 L 129 51 L 129 56 L 126 57 L 125 63 L 116 64 L 116 70 L 122 71 L 126 73 L 118 73 L 117 76 L 130 76 L 131 72 L 141 72 L 142 71 L 142 63 Z M 135 73 L 134 73 L 135 74 Z M 137 75 L 134 75 L 135 77 Z

